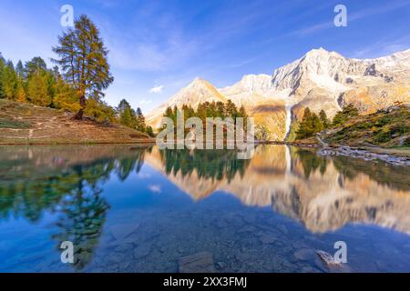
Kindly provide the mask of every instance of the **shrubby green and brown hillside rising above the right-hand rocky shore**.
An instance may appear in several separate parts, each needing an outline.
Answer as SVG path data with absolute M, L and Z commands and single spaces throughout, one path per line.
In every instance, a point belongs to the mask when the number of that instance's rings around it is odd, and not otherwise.
M 410 106 L 391 106 L 356 116 L 321 136 L 330 145 L 410 147 Z

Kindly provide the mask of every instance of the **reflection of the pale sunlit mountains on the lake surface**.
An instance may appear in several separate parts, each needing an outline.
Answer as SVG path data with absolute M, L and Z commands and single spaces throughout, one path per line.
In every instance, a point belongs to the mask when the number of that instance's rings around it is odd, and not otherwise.
M 215 181 L 214 172 L 203 174 L 208 169 L 206 158 L 200 163 L 194 162 L 196 154 L 173 155 L 154 149 L 146 161 L 196 200 L 222 190 L 248 206 L 272 206 L 313 232 L 360 222 L 410 234 L 407 168 L 342 156 L 327 158 L 297 147 L 259 146 L 251 161 L 241 165 L 235 164 L 234 155 L 231 162 L 230 156 L 215 156 L 217 165 L 209 167 L 219 171 Z M 218 163 L 227 169 L 220 171 L 223 167 Z M 174 165 L 189 170 L 179 171 Z

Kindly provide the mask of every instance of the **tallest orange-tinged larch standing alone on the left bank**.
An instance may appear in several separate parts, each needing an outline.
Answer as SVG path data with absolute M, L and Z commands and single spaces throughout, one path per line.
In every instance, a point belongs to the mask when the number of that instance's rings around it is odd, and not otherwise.
M 58 38 L 59 46 L 53 48 L 67 82 L 77 91 L 80 110 L 76 118 L 82 119 L 87 96 L 102 96 L 114 78 L 108 65 L 108 50 L 104 46 L 97 26 L 81 15 L 75 28 L 69 29 Z

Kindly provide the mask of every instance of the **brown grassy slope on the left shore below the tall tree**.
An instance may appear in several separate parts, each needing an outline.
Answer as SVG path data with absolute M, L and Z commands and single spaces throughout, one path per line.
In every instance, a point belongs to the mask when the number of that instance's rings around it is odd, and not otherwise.
M 149 136 L 123 125 L 101 125 L 56 109 L 0 100 L 0 145 L 108 144 L 149 142 Z

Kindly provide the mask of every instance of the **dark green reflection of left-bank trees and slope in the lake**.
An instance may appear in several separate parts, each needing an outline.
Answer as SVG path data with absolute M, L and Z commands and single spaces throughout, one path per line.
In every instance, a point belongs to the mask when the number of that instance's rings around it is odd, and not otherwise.
M 26 158 L 27 153 L 22 150 L 5 158 L 0 169 L 0 216 L 37 222 L 46 212 L 57 213 L 56 226 L 60 231 L 52 238 L 58 242 L 58 249 L 63 241 L 74 244 L 73 266 L 77 270 L 91 261 L 106 221 L 109 205 L 101 196 L 102 184 L 111 173 L 117 173 L 122 181 L 133 171 L 138 174 L 149 150 L 122 148 L 106 153 L 104 149 L 90 149 L 83 147 L 84 156 L 74 158 L 67 148 L 60 148 L 55 157 L 40 152 L 35 158 Z M 85 156 L 87 163 L 82 162 Z M 10 168 L 19 169 L 18 178 Z

